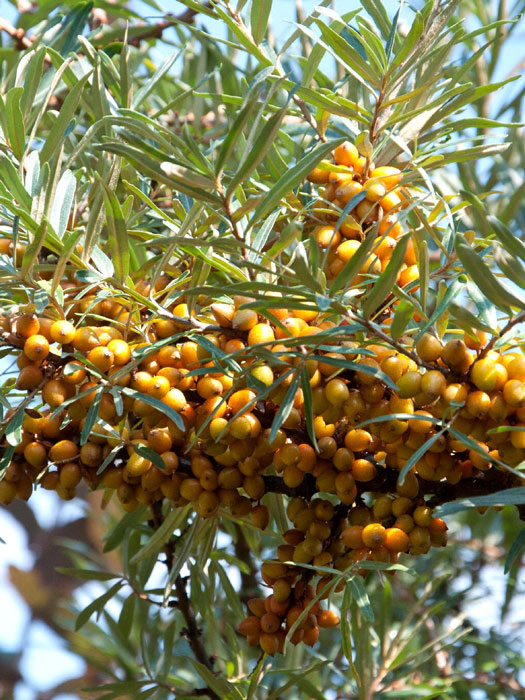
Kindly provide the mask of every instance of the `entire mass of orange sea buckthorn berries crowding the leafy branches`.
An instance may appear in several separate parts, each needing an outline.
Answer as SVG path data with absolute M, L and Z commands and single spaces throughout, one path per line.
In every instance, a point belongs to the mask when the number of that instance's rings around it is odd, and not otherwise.
M 336 172 L 310 176 L 326 185 L 332 208 L 323 216 L 338 217 L 361 193 L 360 201 L 338 230 L 323 224 L 313 235 L 336 276 L 378 221 L 366 279 L 403 233 L 394 214 L 401 174 L 367 163 L 351 144 L 334 159 Z M 399 284 L 416 279 L 414 266 L 409 245 Z M 169 296 L 173 281 L 136 286 L 162 316 L 84 293 L 73 277 L 62 285 L 62 318 L 53 307 L 0 317 L 3 344 L 18 352 L 16 386 L 32 397 L 23 416 L 11 413 L 21 431 L 16 444 L 16 431 L 3 441 L 0 502 L 27 500 L 35 485 L 70 499 L 84 482 L 128 511 L 167 499 L 204 518 L 228 509 L 264 530 L 265 495 L 284 494 L 290 529 L 261 570 L 271 593 L 250 601 L 240 626 L 266 653 L 281 651 L 288 633 L 314 644 L 320 628 L 337 625 L 321 600 L 344 585 L 341 572 L 444 545 L 446 525 L 426 500 L 437 484 L 525 458 L 522 352 L 459 333 L 405 338 L 406 353 L 359 346 L 341 319 L 304 301 L 289 309 L 275 290 L 264 314 L 242 296 L 199 297 L 190 311 L 183 295 Z

